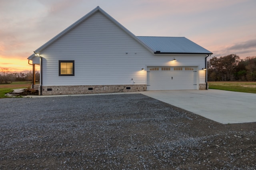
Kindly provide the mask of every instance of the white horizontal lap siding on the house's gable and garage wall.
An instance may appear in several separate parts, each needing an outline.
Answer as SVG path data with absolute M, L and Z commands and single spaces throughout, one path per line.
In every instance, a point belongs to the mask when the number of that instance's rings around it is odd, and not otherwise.
M 44 49 L 41 56 L 44 86 L 146 84 L 142 67 L 198 66 L 200 70 L 205 57 L 154 55 L 100 12 Z M 74 60 L 75 76 L 59 76 L 59 60 Z M 198 83 L 205 82 L 201 71 L 198 76 Z

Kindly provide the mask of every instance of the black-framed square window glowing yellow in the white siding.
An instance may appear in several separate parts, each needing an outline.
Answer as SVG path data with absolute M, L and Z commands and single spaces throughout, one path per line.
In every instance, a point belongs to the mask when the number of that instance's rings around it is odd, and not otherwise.
M 74 60 L 59 60 L 59 76 L 74 76 L 75 61 Z

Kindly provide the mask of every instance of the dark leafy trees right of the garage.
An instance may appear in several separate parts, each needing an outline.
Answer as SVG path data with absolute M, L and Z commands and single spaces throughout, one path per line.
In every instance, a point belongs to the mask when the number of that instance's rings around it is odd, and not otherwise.
M 207 66 L 208 81 L 256 81 L 256 57 L 213 57 Z

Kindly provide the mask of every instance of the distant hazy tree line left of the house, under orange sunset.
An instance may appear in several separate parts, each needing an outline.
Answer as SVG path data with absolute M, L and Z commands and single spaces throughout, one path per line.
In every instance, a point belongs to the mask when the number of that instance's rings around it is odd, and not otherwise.
M 35 73 L 36 81 L 40 81 L 40 73 L 36 71 Z M 0 70 L 0 84 L 8 84 L 14 81 L 32 81 L 33 73 L 29 72 L 10 72 L 8 68 L 1 68 Z

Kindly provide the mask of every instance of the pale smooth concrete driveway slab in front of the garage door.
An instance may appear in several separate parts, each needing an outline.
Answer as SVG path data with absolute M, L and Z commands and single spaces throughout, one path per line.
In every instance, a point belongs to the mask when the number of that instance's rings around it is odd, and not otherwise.
M 140 93 L 219 123 L 256 122 L 256 94 L 213 89 Z

